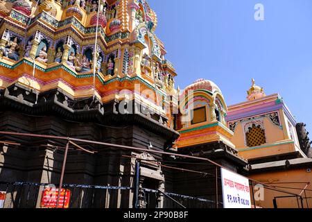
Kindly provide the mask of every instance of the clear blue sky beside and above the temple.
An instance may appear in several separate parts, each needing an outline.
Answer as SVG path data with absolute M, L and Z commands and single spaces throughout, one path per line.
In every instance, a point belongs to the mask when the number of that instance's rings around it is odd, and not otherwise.
M 181 88 L 213 80 L 227 105 L 245 101 L 251 78 L 279 93 L 312 133 L 311 0 L 149 0 L 157 36 Z M 254 6 L 264 6 L 264 21 Z

